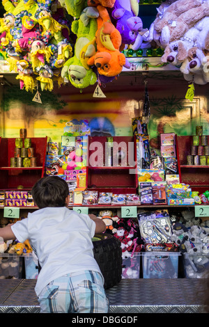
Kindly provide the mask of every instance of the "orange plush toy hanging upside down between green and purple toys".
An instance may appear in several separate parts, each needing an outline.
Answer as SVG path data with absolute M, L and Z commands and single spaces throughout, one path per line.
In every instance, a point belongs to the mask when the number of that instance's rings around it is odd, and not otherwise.
M 98 73 L 107 77 L 114 77 L 121 73 L 125 65 L 125 56 L 119 51 L 121 34 L 111 23 L 109 14 L 103 6 L 97 6 L 98 30 L 95 33 L 97 52 L 88 59 L 88 65 L 95 65 Z

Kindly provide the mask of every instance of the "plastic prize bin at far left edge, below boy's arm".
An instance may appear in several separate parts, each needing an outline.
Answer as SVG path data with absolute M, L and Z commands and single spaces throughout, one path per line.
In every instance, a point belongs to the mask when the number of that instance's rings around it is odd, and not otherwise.
M 0 253 L 0 278 L 22 278 L 22 257 L 16 253 Z

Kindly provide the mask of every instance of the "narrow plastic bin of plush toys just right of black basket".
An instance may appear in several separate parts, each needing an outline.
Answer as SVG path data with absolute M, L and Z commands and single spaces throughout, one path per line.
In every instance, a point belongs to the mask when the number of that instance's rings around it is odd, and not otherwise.
M 123 257 L 122 278 L 139 278 L 140 252 L 130 252 L 128 257 Z

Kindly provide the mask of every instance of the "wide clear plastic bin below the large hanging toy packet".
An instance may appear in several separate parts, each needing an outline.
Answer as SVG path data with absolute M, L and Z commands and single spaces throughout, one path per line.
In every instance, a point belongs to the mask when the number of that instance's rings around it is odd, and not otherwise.
M 178 278 L 179 252 L 143 252 L 143 278 Z

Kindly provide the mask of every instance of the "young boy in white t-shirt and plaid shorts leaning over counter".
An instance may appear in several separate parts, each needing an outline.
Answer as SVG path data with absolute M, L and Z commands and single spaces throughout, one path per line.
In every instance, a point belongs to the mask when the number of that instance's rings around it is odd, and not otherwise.
M 105 313 L 104 279 L 91 238 L 105 231 L 95 215 L 68 209 L 68 184 L 58 176 L 40 179 L 31 191 L 38 210 L 0 229 L 4 241 L 29 239 L 41 269 L 35 291 L 42 313 Z

